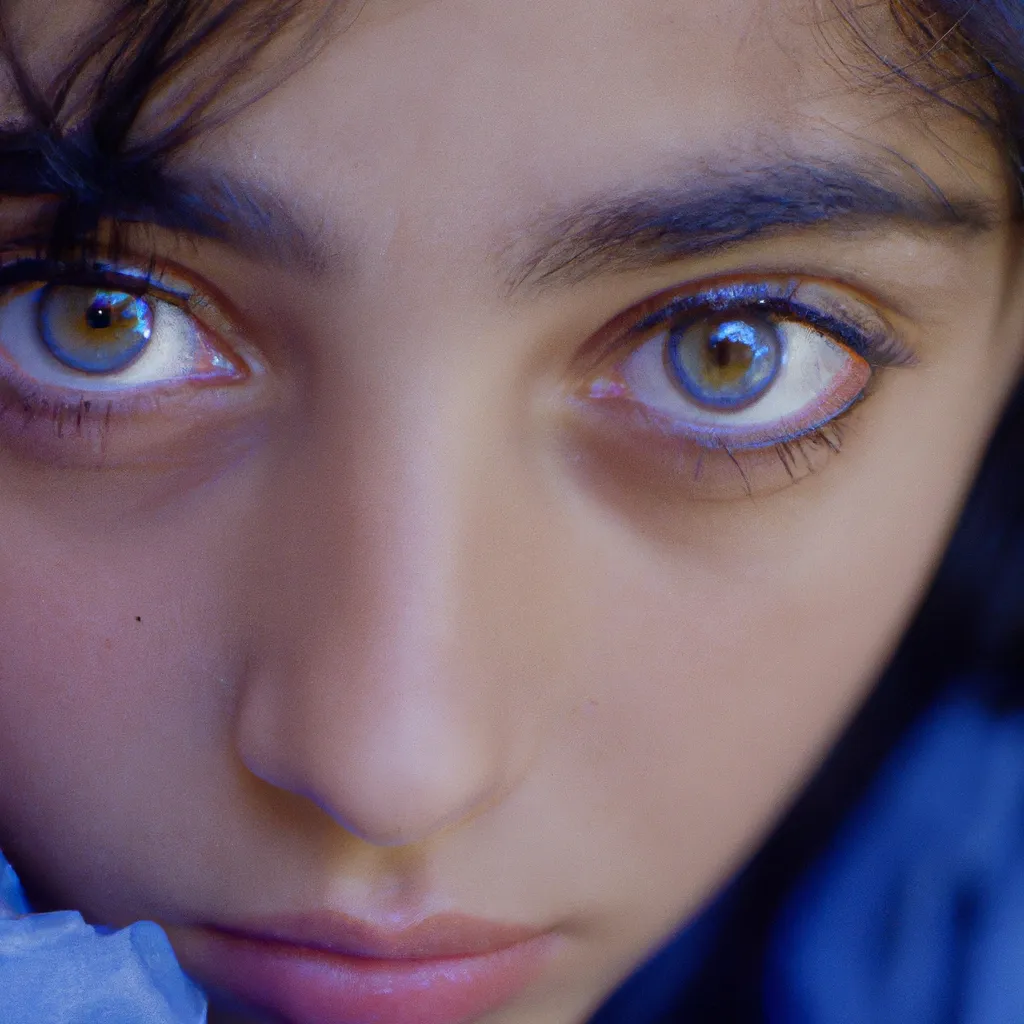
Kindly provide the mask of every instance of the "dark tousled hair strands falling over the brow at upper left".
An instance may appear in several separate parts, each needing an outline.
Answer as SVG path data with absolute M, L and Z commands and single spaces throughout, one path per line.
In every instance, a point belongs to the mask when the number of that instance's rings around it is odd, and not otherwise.
M 310 60 L 343 6 L 120 0 L 41 83 L 0 0 L 0 65 L 22 106 L 0 125 L 0 198 L 57 201 L 37 230 L 50 259 L 88 261 L 102 231 L 116 256 L 117 225 L 127 222 L 217 237 L 237 198 L 185 187 L 172 159 Z

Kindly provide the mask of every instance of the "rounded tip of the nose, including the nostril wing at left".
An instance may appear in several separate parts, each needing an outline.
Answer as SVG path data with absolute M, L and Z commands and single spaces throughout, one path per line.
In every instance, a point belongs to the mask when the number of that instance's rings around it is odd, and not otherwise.
M 308 685 L 252 685 L 236 745 L 253 775 L 310 801 L 350 835 L 378 847 L 415 845 L 493 806 L 514 760 L 474 701 L 456 706 L 437 691 L 407 679 L 321 685 L 310 699 Z

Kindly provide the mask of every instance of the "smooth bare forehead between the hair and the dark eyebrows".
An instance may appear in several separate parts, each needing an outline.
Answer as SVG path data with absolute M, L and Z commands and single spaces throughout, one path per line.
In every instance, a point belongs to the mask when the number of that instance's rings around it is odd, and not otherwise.
M 879 87 L 881 61 L 836 9 L 370 0 L 343 8 L 317 58 L 232 123 L 218 159 L 258 164 L 349 236 L 374 209 L 384 242 L 415 227 L 492 248 L 531 212 L 610 189 L 802 160 L 853 155 L 919 186 L 998 193 L 998 161 L 974 159 L 970 123 L 903 84 Z M 899 52 L 886 17 L 867 28 Z M 972 160 L 950 160 L 958 150 Z

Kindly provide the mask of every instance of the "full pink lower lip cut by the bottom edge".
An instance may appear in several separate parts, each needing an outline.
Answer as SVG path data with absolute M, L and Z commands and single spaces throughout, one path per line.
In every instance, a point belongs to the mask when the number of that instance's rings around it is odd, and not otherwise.
M 350 956 L 208 929 L 174 945 L 201 985 L 288 1024 L 468 1024 L 537 977 L 553 937 L 438 959 Z

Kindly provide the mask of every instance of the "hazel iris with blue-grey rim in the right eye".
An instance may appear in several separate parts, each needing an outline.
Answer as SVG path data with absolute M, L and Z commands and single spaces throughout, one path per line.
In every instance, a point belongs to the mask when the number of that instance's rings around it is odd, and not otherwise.
M 668 340 L 666 361 L 677 384 L 708 409 L 738 410 L 771 386 L 782 364 L 779 332 L 767 317 L 701 317 Z

